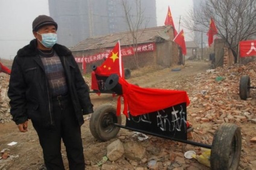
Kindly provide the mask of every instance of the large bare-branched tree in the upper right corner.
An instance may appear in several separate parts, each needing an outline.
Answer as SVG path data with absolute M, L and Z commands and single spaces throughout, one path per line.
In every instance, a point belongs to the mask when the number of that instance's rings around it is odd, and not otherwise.
M 255 0 L 206 0 L 191 10 L 185 20 L 188 29 L 206 33 L 211 17 L 218 29 L 218 37 L 225 40 L 237 58 L 238 43 L 256 35 Z M 196 26 L 194 26 L 196 25 Z

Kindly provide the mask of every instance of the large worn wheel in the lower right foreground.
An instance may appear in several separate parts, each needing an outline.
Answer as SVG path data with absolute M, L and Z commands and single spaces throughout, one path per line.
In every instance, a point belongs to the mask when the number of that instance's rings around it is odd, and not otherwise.
M 242 149 L 242 135 L 235 124 L 223 123 L 213 138 L 211 169 L 238 169 Z

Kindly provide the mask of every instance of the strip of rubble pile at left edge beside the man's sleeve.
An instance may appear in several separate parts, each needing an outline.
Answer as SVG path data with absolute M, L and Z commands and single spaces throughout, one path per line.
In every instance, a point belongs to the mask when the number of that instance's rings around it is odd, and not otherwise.
M 5 73 L 0 73 L 0 123 L 10 122 L 10 99 L 7 96 L 10 76 Z

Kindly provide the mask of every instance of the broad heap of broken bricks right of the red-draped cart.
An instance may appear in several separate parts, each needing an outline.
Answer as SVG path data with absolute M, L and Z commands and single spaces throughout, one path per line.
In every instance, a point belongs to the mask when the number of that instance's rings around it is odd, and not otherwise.
M 194 81 L 189 83 L 193 92 L 189 95 L 190 108 L 200 108 L 198 113 L 191 113 L 197 122 L 256 123 L 256 98 L 254 89 L 251 89 L 251 98 L 241 100 L 239 96 L 240 77 L 251 77 L 251 86 L 255 87 L 256 62 L 240 67 L 232 66 L 228 69 L 216 68 L 197 74 Z M 255 80 L 255 82 L 254 82 Z

